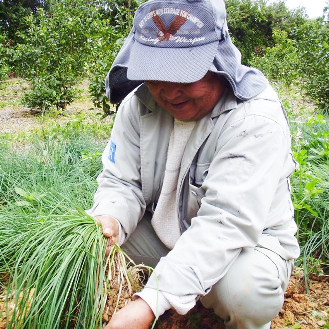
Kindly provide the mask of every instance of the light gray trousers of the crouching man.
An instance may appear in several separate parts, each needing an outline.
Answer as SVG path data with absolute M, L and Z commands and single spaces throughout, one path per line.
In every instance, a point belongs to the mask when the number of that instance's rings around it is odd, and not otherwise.
M 122 247 L 136 264 L 153 268 L 169 252 L 151 218 L 143 218 Z M 201 297 L 201 303 L 213 309 L 227 329 L 269 329 L 283 305 L 292 269 L 292 261 L 271 250 L 243 248 L 227 274 Z

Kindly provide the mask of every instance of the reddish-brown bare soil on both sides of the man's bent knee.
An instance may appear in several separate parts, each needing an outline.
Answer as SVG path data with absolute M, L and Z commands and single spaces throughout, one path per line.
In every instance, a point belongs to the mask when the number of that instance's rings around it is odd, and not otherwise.
M 313 275 L 306 292 L 304 274 L 296 269 L 285 293 L 285 302 L 271 329 L 329 328 L 329 275 Z M 201 303 L 181 316 L 167 311 L 160 317 L 156 329 L 225 329 L 223 320 Z

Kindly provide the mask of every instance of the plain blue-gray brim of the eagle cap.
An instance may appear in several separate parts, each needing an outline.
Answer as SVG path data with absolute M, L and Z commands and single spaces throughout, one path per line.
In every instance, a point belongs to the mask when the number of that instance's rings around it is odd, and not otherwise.
M 130 53 L 127 78 L 177 83 L 198 81 L 211 67 L 218 42 L 193 47 L 165 48 L 147 46 L 135 41 Z

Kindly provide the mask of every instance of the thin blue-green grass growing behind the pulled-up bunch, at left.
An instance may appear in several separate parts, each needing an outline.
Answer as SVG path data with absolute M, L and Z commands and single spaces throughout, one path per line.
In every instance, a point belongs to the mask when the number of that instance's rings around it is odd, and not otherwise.
M 84 152 L 99 154 L 101 147 L 87 137 L 66 141 L 30 140 L 24 149 L 0 148 L 0 249 L 31 232 L 31 223 L 70 213 L 75 206 L 88 209 L 97 188 L 100 156 L 85 159 Z M 15 250 L 4 254 L 7 267 Z

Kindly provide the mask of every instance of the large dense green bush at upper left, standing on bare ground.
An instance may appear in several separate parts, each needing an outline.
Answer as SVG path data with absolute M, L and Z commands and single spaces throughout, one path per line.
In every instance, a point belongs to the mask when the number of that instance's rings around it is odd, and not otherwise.
M 18 73 L 31 89 L 26 104 L 39 110 L 52 106 L 65 109 L 76 92 L 73 86 L 85 75 L 90 56 L 89 35 L 97 31 L 97 8 L 90 1 L 55 1 L 49 11 L 38 8 L 28 16 L 28 29 L 20 33 L 25 43 L 17 45 Z

